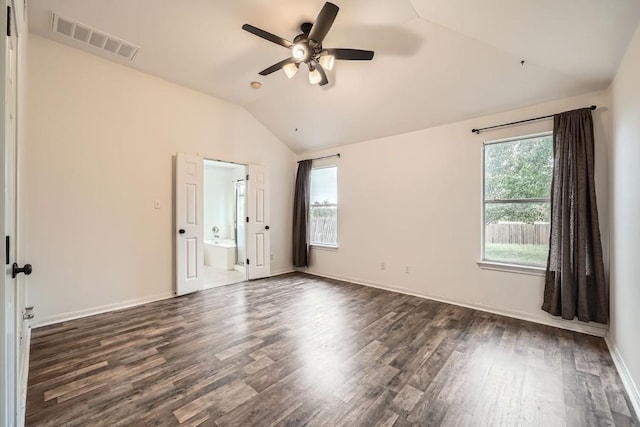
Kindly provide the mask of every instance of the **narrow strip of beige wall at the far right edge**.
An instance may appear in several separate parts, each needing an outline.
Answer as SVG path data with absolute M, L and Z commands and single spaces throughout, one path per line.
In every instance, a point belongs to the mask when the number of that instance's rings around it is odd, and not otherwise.
M 609 345 L 640 414 L 640 27 L 611 85 Z

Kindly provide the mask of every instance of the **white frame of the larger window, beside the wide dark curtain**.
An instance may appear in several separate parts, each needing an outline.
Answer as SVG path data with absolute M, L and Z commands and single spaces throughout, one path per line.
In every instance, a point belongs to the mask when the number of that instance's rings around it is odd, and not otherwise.
M 486 270 L 497 270 L 497 271 L 508 271 L 513 273 L 521 273 L 521 274 L 532 274 L 536 276 L 543 276 L 546 267 L 534 265 L 534 264 L 525 264 L 518 262 L 505 262 L 498 260 L 491 260 L 486 258 L 486 239 L 485 239 L 485 213 L 487 204 L 513 204 L 513 203 L 549 203 L 551 204 L 551 194 L 549 194 L 549 198 L 530 198 L 530 199 L 494 199 L 487 203 L 487 195 L 486 195 L 486 148 L 491 145 L 504 144 L 513 141 L 520 141 L 524 139 L 532 139 L 539 138 L 543 136 L 551 136 L 553 137 L 552 131 L 544 131 L 538 132 L 528 135 L 518 135 L 509 138 L 502 138 L 497 140 L 485 141 L 482 143 L 482 200 L 480 202 L 480 260 L 477 262 L 478 266 L 482 269 Z

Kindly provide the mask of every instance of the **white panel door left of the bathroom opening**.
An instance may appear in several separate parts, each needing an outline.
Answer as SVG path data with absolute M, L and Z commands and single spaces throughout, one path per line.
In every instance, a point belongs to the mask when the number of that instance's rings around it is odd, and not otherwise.
M 202 158 L 176 154 L 176 295 L 204 287 Z

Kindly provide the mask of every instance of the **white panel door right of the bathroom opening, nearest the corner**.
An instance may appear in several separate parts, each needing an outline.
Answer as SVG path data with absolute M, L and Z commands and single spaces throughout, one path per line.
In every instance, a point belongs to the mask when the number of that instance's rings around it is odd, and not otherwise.
M 249 165 L 247 181 L 247 276 L 271 276 L 269 180 L 263 166 Z

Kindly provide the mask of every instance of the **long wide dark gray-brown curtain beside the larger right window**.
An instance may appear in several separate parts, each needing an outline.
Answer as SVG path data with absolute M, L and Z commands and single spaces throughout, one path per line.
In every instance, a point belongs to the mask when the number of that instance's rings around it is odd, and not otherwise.
M 551 236 L 542 309 L 563 319 L 609 319 L 588 108 L 553 119 Z

